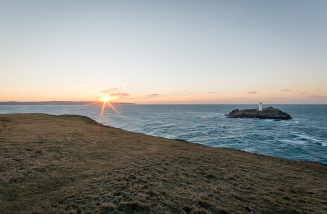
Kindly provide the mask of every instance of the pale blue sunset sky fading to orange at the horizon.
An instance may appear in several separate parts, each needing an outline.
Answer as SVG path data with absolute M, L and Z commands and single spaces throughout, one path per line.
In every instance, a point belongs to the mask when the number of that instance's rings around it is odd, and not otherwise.
M 326 0 L 0 0 L 0 101 L 327 104 Z

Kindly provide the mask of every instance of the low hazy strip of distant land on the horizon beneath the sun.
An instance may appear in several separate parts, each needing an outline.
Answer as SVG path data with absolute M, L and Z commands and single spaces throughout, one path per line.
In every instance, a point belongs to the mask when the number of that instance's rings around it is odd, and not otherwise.
M 112 105 L 136 105 L 128 102 L 109 102 Z M 94 101 L 40 101 L 40 102 L 0 102 L 0 105 L 102 105 L 103 102 Z

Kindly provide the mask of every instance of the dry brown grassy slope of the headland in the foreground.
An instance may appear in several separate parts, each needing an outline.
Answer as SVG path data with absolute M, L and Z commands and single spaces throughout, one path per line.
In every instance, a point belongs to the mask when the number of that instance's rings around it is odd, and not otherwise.
M 326 175 L 82 116 L 0 115 L 0 213 L 325 214 Z

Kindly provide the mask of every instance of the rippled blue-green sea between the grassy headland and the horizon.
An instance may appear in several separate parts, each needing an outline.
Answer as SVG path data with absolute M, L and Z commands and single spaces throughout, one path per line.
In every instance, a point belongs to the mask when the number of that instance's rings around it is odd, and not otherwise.
M 264 108 L 269 105 L 264 105 Z M 289 121 L 226 118 L 257 105 L 34 105 L 0 106 L 0 114 L 85 115 L 124 130 L 179 138 L 210 147 L 327 164 L 327 105 L 271 105 Z

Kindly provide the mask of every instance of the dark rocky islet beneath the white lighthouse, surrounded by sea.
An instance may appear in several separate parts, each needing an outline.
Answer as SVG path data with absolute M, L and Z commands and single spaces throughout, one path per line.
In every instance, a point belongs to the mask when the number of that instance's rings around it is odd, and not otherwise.
M 289 120 L 292 119 L 291 116 L 279 109 L 268 107 L 264 108 L 262 111 L 257 109 L 235 109 L 229 113 L 227 118 L 258 118 L 258 119 L 274 119 L 274 120 Z

